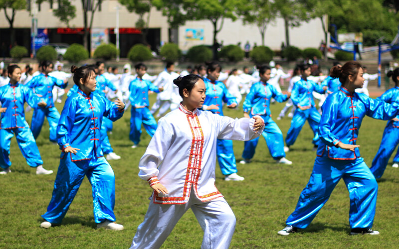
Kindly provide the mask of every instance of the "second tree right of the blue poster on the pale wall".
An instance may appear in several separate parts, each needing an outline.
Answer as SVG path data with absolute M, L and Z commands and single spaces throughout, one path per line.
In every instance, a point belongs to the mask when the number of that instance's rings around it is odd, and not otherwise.
M 274 2 L 270 0 L 252 0 L 239 13 L 243 16 L 244 23 L 256 24 L 262 38 L 262 46 L 264 46 L 267 24 L 276 18 Z

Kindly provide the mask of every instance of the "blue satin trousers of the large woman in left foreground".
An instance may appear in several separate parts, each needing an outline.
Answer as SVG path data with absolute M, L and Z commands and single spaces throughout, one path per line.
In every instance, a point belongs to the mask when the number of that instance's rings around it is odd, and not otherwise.
M 86 175 L 93 191 L 93 212 L 95 223 L 105 220 L 114 222 L 115 175 L 104 157 L 72 161 L 69 153 L 60 160 L 54 190 L 47 212 L 42 215 L 46 221 L 59 224 L 71 205 L 80 184 Z

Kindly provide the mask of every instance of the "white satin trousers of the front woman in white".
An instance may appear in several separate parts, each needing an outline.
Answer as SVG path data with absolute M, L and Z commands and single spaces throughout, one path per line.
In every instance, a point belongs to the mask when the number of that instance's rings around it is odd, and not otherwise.
M 235 228 L 235 216 L 223 197 L 201 202 L 192 192 L 186 204 L 154 204 L 150 200 L 144 222 L 137 228 L 131 249 L 160 248 L 187 210 L 193 210 L 203 230 L 202 249 L 227 249 Z

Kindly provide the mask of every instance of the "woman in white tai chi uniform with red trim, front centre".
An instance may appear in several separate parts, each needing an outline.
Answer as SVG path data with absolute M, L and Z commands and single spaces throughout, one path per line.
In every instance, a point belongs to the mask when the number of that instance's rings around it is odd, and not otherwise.
M 131 248 L 160 248 L 190 208 L 204 232 L 201 248 L 228 248 L 235 216 L 214 185 L 216 141 L 253 139 L 264 123 L 258 116 L 234 120 L 200 111 L 206 88 L 198 75 L 174 83 L 183 101 L 159 120 L 139 162 L 139 177 L 154 191 Z

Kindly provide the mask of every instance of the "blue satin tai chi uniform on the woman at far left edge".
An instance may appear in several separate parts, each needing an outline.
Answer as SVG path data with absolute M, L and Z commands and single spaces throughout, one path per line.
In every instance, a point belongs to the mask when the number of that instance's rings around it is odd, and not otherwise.
M 15 85 L 8 83 L 0 87 L 0 102 L 1 107 L 7 108 L 5 113 L 0 114 L 0 167 L 5 169 L 11 166 L 9 147 L 14 134 L 27 164 L 31 167 L 43 164 L 32 131 L 26 123 L 23 108 L 25 102 L 37 108 L 40 99 L 30 88 L 19 83 Z

